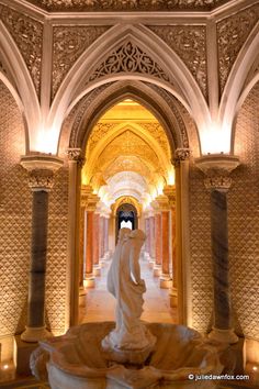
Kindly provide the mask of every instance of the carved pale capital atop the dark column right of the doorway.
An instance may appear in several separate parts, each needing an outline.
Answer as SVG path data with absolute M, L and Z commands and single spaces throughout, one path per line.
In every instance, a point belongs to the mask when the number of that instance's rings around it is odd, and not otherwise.
M 240 165 L 234 155 L 213 154 L 195 159 L 195 164 L 205 175 L 204 185 L 209 190 L 227 191 L 232 186 L 230 173 Z

